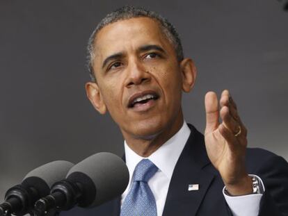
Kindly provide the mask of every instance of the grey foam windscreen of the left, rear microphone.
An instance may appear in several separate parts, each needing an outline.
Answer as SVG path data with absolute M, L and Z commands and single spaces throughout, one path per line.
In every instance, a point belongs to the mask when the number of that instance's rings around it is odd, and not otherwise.
M 22 185 L 35 188 L 41 197 L 45 197 L 49 194 L 51 186 L 56 181 L 65 178 L 73 166 L 73 163 L 65 160 L 56 160 L 47 163 L 26 174 Z

